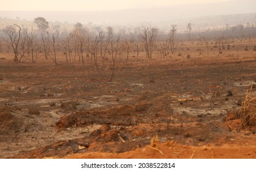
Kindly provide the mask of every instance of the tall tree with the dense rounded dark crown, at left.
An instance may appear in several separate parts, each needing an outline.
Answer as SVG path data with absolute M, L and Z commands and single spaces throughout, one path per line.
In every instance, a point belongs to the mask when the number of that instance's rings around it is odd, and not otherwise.
M 46 33 L 45 31 L 48 29 L 48 27 L 49 27 L 48 24 L 49 23 L 42 16 L 38 16 L 37 18 L 34 18 L 34 23 L 36 23 L 36 26 L 38 27 L 39 32 L 41 34 L 42 42 L 43 42 L 43 45 L 44 45 L 44 56 L 45 56 L 45 59 L 48 59 L 47 47 L 46 47 L 46 44 L 45 44 L 46 40 L 47 40 L 47 37 L 45 35 L 45 33 Z

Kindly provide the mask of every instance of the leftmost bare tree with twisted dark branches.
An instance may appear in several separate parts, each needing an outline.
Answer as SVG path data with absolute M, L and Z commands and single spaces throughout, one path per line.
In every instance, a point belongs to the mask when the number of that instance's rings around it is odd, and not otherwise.
M 7 44 L 9 44 L 14 50 L 14 61 L 18 62 L 18 45 L 21 37 L 21 27 L 17 24 L 6 26 L 4 32 L 8 36 L 8 40 L 6 40 Z

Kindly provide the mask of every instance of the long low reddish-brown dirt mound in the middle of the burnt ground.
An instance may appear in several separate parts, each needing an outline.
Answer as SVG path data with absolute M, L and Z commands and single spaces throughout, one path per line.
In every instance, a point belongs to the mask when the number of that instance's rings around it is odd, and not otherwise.
M 58 128 L 68 128 L 76 126 L 99 125 L 135 125 L 143 123 L 149 111 L 150 104 L 136 104 L 135 106 L 117 106 L 111 109 L 79 111 L 61 117 L 56 123 Z M 121 116 L 121 117 L 118 117 Z

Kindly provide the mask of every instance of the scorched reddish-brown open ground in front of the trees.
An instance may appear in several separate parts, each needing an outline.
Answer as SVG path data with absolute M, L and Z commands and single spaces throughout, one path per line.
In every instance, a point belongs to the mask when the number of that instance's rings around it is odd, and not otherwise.
M 120 62 L 111 82 L 86 65 L 6 55 L 0 158 L 256 158 L 256 127 L 239 118 L 256 96 L 256 51 L 244 51 L 255 42 Z

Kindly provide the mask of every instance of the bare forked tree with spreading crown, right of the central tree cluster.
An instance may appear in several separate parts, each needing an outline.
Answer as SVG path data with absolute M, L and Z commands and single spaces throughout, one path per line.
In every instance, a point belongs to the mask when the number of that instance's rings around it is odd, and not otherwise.
M 141 26 L 139 29 L 139 39 L 142 40 L 148 59 L 152 59 L 153 49 L 155 48 L 158 37 L 159 31 L 155 27 Z

